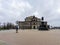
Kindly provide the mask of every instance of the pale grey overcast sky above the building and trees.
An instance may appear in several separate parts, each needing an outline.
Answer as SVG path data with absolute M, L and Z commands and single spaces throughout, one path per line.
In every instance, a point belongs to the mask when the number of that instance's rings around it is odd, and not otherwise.
M 0 22 L 14 23 L 33 15 L 60 26 L 60 0 L 0 0 Z

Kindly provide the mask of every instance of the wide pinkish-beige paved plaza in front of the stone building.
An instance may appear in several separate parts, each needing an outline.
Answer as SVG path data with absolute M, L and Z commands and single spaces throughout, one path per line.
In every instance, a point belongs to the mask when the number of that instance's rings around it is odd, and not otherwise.
M 5 30 L 0 31 L 0 45 L 60 45 L 60 30 Z

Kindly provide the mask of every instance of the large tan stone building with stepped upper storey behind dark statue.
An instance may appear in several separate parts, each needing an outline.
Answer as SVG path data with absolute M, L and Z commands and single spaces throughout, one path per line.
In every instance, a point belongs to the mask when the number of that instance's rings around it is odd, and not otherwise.
M 41 25 L 41 19 L 35 16 L 29 16 L 25 18 L 25 21 L 18 21 L 20 29 L 38 29 Z M 47 22 L 44 22 L 47 25 Z

